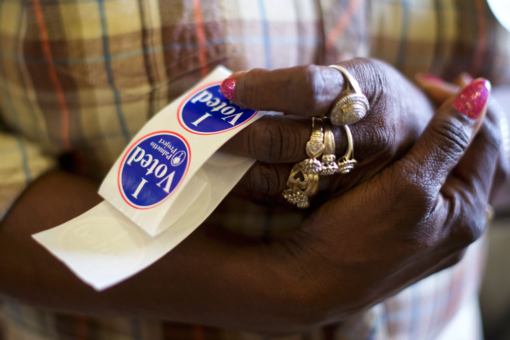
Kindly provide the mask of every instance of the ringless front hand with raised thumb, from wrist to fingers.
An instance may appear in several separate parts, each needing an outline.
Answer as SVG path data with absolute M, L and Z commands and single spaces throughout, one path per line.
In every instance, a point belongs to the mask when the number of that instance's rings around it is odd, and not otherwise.
M 308 274 L 303 290 L 322 323 L 455 264 L 480 236 L 499 136 L 482 125 L 481 97 L 467 109 L 463 96 L 475 85 L 488 95 L 478 80 L 448 98 L 400 160 L 325 202 L 285 243 Z

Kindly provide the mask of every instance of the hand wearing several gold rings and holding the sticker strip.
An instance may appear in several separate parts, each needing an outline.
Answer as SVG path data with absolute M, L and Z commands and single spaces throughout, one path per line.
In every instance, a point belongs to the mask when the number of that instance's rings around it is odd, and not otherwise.
M 411 147 L 430 119 L 429 100 L 392 66 L 371 59 L 341 64 L 360 83 L 370 102 L 367 115 L 351 127 L 358 165 L 347 175 L 321 176 L 319 191 L 340 194 L 397 160 Z M 254 110 L 281 111 L 243 129 L 222 151 L 248 156 L 257 162 L 244 184 L 264 194 L 280 194 L 293 163 L 308 158 L 311 116 L 325 115 L 345 87 L 342 74 L 325 66 L 298 66 L 268 71 L 234 73 L 235 102 Z M 228 94 L 227 94 L 228 95 Z M 335 126 L 337 155 L 347 142 Z

